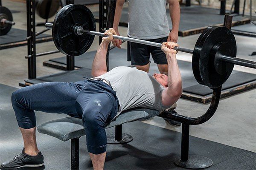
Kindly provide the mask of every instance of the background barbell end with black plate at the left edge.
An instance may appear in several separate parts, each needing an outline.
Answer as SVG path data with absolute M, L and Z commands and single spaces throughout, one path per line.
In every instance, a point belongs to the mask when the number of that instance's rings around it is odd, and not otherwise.
M 0 35 L 7 34 L 12 25 L 15 25 L 15 22 L 12 21 L 12 12 L 8 8 L 0 6 Z

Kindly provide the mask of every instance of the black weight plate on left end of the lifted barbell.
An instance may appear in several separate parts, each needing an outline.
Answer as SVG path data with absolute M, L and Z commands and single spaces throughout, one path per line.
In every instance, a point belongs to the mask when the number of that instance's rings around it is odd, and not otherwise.
M 70 4 L 61 8 L 56 14 L 52 27 L 52 38 L 55 46 L 63 54 L 79 56 L 84 54 L 92 45 L 94 35 L 76 35 L 75 26 L 84 30 L 95 31 L 95 20 L 92 12 L 86 6 Z

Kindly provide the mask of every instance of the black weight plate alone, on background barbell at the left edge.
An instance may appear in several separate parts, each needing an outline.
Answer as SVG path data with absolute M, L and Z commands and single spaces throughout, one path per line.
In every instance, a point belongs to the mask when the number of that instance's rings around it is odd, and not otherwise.
M 2 19 L 13 21 L 12 12 L 4 6 L 0 6 L 0 20 Z M 0 24 L 0 35 L 7 34 L 11 30 L 11 28 L 12 28 L 11 24 Z

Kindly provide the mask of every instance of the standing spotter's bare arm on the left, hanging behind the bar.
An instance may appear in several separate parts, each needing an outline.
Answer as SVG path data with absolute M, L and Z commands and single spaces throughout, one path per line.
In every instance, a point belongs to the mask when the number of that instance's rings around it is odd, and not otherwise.
M 125 3 L 125 0 L 117 0 L 116 1 L 116 10 L 115 10 L 113 28 L 116 31 L 117 35 L 120 35 L 119 31 L 118 31 L 118 26 L 119 26 L 120 18 L 122 15 L 122 7 L 123 7 L 124 3 Z M 118 48 L 121 48 L 122 40 L 113 40 L 113 45 L 115 45 Z

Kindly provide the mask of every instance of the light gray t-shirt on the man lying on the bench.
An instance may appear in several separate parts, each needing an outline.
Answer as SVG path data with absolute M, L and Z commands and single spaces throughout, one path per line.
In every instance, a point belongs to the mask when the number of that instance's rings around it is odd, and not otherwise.
M 164 87 L 145 71 L 131 67 L 116 67 L 99 77 L 110 82 L 119 100 L 119 111 L 131 108 L 151 108 L 163 110 L 171 106 L 163 106 L 161 93 Z M 95 79 L 93 78 L 93 79 Z

